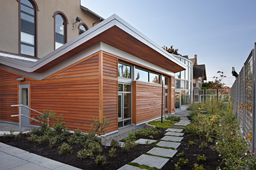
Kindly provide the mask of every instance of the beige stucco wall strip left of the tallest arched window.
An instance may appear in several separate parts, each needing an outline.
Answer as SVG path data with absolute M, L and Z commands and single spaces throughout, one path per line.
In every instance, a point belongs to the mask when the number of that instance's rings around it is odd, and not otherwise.
M 1 0 L 0 50 L 18 54 L 18 2 Z

